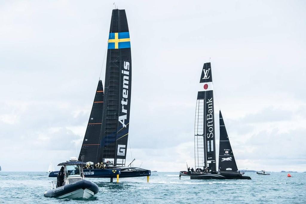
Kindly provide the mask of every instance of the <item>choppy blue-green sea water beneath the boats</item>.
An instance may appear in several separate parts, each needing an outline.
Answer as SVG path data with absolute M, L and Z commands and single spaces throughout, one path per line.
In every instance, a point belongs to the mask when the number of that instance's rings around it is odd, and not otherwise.
M 86 178 L 99 186 L 90 200 L 45 198 L 50 189 L 45 172 L 0 172 L 0 203 L 306 203 L 306 173 L 245 173 L 252 180 L 179 180 L 178 172 L 152 172 L 146 177 Z M 115 181 L 116 179 L 114 179 Z

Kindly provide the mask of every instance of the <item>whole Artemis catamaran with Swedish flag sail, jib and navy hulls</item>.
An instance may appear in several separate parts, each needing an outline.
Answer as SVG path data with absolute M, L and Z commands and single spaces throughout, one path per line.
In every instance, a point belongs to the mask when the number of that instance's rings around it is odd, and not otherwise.
M 105 89 L 99 80 L 78 158 L 87 163 L 86 177 L 110 178 L 112 181 L 114 177 L 118 179 L 119 174 L 120 177 L 147 176 L 147 180 L 151 176 L 150 170 L 125 166 L 131 77 L 131 44 L 125 10 L 114 9 L 107 46 Z M 98 163 L 99 167 L 95 168 Z M 49 177 L 57 174 L 51 172 Z

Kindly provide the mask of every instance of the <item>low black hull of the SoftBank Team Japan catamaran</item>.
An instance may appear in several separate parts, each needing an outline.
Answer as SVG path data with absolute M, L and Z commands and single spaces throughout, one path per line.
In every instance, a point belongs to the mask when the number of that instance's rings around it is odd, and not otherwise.
M 181 171 L 180 176 L 190 176 L 190 179 L 248 179 L 249 176 L 242 176 L 239 172 L 186 172 Z

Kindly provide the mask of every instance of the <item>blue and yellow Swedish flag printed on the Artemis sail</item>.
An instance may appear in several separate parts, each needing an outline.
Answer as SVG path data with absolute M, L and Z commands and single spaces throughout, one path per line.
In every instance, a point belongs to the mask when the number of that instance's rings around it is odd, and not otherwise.
M 121 49 L 130 47 L 131 42 L 129 32 L 110 33 L 107 49 Z

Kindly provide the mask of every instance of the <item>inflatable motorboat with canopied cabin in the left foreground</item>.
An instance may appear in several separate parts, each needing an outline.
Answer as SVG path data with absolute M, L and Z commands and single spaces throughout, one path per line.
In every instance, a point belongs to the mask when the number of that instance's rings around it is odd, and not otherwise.
M 62 162 L 58 166 L 64 166 L 64 185 L 58 186 L 56 181 L 51 182 L 51 189 L 44 193 L 51 198 L 92 198 L 99 192 L 99 187 L 88 180 L 84 180 L 83 165 L 76 157 L 70 157 L 69 161 Z

